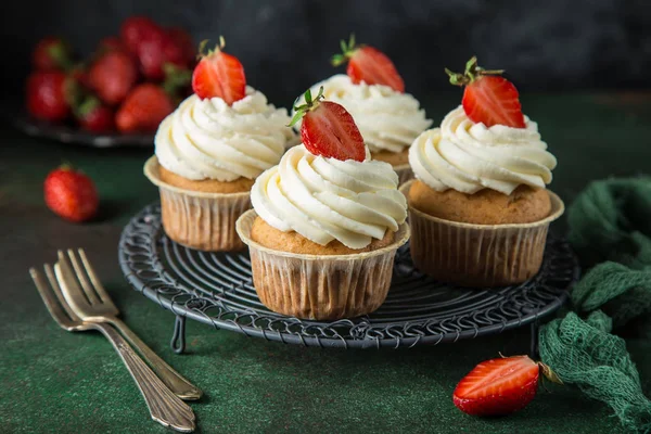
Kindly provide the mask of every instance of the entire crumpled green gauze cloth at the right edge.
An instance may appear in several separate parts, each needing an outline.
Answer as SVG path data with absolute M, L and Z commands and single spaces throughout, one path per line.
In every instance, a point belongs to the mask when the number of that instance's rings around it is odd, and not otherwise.
M 590 183 L 567 222 L 587 272 L 572 292 L 575 311 L 540 329 L 540 357 L 563 382 L 607 403 L 625 427 L 650 433 L 651 400 L 625 341 L 611 332 L 651 312 L 651 178 Z

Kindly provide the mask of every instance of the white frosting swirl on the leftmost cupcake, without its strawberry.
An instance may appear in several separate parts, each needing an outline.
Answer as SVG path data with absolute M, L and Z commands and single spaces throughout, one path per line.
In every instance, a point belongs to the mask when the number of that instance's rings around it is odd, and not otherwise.
M 232 106 L 221 98 L 192 94 L 161 123 L 156 156 L 187 179 L 253 179 L 280 161 L 294 137 L 289 123 L 285 108 L 276 108 L 251 87 Z

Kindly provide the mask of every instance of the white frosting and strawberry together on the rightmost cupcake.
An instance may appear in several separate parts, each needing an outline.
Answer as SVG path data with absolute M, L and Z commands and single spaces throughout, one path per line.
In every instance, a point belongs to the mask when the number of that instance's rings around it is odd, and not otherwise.
M 538 125 L 524 116 L 512 84 L 501 72 L 486 72 L 476 59 L 467 75 L 451 75 L 467 86 L 463 103 L 441 128 L 420 135 L 409 150 L 418 179 L 436 191 L 475 193 L 488 188 L 511 194 L 525 184 L 544 189 L 551 182 L 556 157 L 540 139 Z M 470 75 L 473 78 L 468 78 Z

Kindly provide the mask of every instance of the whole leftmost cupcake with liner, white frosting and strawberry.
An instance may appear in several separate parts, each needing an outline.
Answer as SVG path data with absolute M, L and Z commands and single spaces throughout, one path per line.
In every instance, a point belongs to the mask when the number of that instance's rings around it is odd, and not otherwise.
M 144 166 L 167 235 L 202 251 L 244 247 L 235 221 L 251 208 L 251 187 L 294 137 L 286 110 L 246 86 L 242 64 L 222 48 L 196 65 L 194 93 L 163 120 Z

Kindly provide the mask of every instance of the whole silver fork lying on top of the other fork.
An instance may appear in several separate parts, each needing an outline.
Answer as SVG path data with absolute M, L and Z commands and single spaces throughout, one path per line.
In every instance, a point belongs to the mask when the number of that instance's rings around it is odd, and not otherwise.
M 152 369 L 167 384 L 171 392 L 182 399 L 199 399 L 202 392 L 167 365 L 127 324 L 117 318 L 119 310 L 113 304 L 104 286 L 102 286 L 86 253 L 82 248 L 79 248 L 78 254 L 80 261 L 73 250 L 68 250 L 67 255 L 59 251 L 59 264 L 61 265 L 61 273 L 63 276 L 59 276 L 58 273 L 58 277 L 60 281 L 63 280 L 64 282 L 62 284 L 63 295 L 75 314 L 84 321 L 103 322 L 115 326 L 151 365 Z M 77 284 L 77 281 L 80 285 Z

